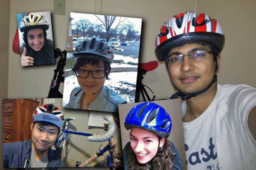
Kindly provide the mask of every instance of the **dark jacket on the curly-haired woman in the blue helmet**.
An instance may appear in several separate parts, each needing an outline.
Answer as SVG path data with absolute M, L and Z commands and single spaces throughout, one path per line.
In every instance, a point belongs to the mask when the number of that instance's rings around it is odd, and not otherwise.
M 171 142 L 170 140 L 167 140 L 167 142 Z M 181 161 L 181 157 L 180 157 L 180 153 L 179 151 L 176 149 L 176 147 L 174 146 L 174 144 L 171 142 L 171 146 L 172 148 L 170 148 L 172 150 L 172 153 L 175 154 L 175 159 L 173 161 L 173 170 L 182 170 L 182 161 Z M 125 170 L 128 170 L 127 167 L 127 159 L 129 158 L 131 152 L 133 152 L 133 150 L 131 149 L 131 143 L 128 142 L 125 145 L 125 148 L 123 149 L 123 159 L 124 159 L 124 167 Z

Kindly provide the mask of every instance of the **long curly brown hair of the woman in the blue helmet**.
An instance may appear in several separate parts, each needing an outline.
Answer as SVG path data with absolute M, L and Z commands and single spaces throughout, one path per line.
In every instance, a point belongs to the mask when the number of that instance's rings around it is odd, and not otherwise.
M 159 137 L 159 141 L 160 141 Z M 158 148 L 156 156 L 150 161 L 151 166 L 154 170 L 172 170 L 172 164 L 175 159 L 175 155 L 171 151 L 171 142 L 166 142 L 163 144 L 163 147 Z M 131 154 L 127 160 L 129 170 L 147 170 L 147 164 L 140 164 L 138 162 L 137 156 L 134 151 L 131 151 Z

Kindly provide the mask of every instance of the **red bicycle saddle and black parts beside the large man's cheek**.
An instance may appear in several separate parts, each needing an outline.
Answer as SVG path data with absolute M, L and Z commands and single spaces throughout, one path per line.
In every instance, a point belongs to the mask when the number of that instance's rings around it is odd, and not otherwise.
M 136 88 L 136 94 L 135 94 L 135 102 L 139 102 L 140 100 L 140 94 L 143 97 L 143 101 L 146 102 L 148 101 L 153 101 L 156 97 L 154 92 L 146 85 L 143 85 L 142 79 L 144 78 L 143 75 L 145 75 L 148 71 L 152 71 L 158 67 L 158 62 L 157 61 L 150 61 L 150 62 L 145 62 L 145 63 L 139 63 L 138 65 L 138 76 L 137 76 L 137 88 Z M 151 91 L 153 97 L 150 98 L 148 95 L 147 90 L 145 87 Z M 147 100 L 146 98 L 147 97 Z

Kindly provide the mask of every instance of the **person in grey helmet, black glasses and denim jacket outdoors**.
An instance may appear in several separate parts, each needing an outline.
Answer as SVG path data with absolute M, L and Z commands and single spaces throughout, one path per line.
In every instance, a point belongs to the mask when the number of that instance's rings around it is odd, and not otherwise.
M 80 87 L 70 94 L 65 108 L 117 112 L 118 104 L 127 103 L 119 94 L 104 85 L 113 62 L 112 49 L 98 38 L 87 38 L 76 46 L 72 68 Z

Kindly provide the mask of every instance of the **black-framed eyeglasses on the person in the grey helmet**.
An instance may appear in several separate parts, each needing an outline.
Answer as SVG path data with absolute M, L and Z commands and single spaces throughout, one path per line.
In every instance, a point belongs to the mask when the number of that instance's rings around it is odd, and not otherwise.
M 87 70 L 77 69 L 75 73 L 76 73 L 76 76 L 80 78 L 87 78 L 89 76 L 89 73 L 91 73 L 93 78 L 102 79 L 108 73 L 108 70 L 87 71 Z

